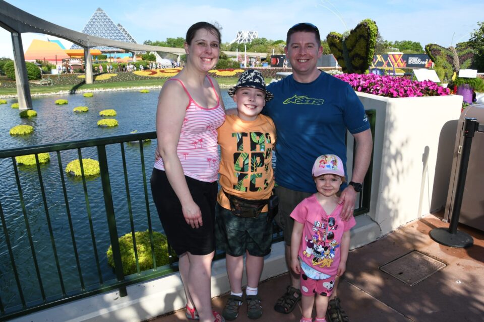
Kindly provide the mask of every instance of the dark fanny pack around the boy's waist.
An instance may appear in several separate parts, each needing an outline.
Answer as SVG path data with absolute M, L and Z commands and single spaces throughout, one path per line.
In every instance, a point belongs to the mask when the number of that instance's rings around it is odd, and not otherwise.
M 272 220 L 272 218 L 274 218 L 274 216 L 277 214 L 279 199 L 274 194 L 268 199 L 250 200 L 231 195 L 225 192 L 225 190 L 223 190 L 223 193 L 225 196 L 227 196 L 227 199 L 230 203 L 230 211 L 232 211 L 232 214 L 235 216 L 243 218 L 257 218 L 266 205 L 269 205 L 268 219 Z

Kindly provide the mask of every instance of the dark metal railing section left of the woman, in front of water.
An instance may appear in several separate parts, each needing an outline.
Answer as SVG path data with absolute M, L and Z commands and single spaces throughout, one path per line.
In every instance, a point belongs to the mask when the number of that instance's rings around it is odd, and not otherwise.
M 7 193 L 0 196 L 0 218 L 3 228 L 3 238 L 0 239 L 0 254 L 2 254 L 2 260 L 0 260 L 0 267 L 2 268 L 0 270 L 0 279 L 1 283 L 5 287 L 8 287 L 8 294 L 6 296 L 2 296 L 2 294 L 5 294 L 7 290 L 0 290 L 0 319 L 24 315 L 39 309 L 116 288 L 119 289 L 121 296 L 125 296 L 127 294 L 127 285 L 152 279 L 177 270 L 175 263 L 170 263 L 161 267 L 157 267 L 156 265 L 155 246 L 153 244 L 153 227 L 149 205 L 151 196 L 149 195 L 143 150 L 143 142 L 155 138 L 156 132 L 146 132 L 92 140 L 28 146 L 0 151 L 0 161 L 3 163 L 0 167 L 4 172 L 4 177 L 0 184 L 4 185 L 4 189 L 5 185 L 10 185 L 10 187 L 6 189 Z M 108 167 L 108 158 L 113 158 L 119 153 L 121 155 L 120 159 L 123 169 L 126 197 L 120 199 L 126 201 L 124 207 L 127 208 L 129 212 L 128 230 L 132 233 L 136 250 L 136 219 L 134 218 L 132 211 L 132 200 L 129 186 L 130 180 L 125 149 L 125 145 L 130 142 L 137 143 L 135 149 L 139 147 L 138 152 L 135 154 L 137 154 L 139 161 L 139 171 L 137 172 L 141 172 L 142 174 L 142 194 L 144 196 L 142 199 L 144 199 L 146 207 L 146 221 L 143 225 L 147 226 L 147 230 L 150 234 L 151 256 L 154 265 L 150 270 L 141 271 L 138 254 L 135 251 L 137 273 L 125 276 L 123 274 L 123 264 L 121 262 L 119 250 L 118 225 L 116 224 L 116 217 L 114 215 L 115 206 L 113 204 L 111 188 L 112 178 L 109 176 L 111 169 Z M 118 146 L 117 149 L 116 146 Z M 97 154 L 99 161 L 100 185 L 98 184 L 88 187 L 94 181 L 91 177 L 85 175 L 82 159 L 84 150 L 88 148 L 92 149 L 92 147 L 95 148 L 95 154 Z M 109 151 L 107 151 L 108 149 Z M 79 160 L 81 160 L 80 180 L 73 179 L 65 174 L 64 167 L 66 165 L 63 163 L 63 153 L 68 151 L 71 151 L 71 157 L 75 154 L 74 152 L 77 151 L 77 156 L 79 157 Z M 52 185 L 52 182 L 49 182 L 47 186 L 45 184 L 46 167 L 39 163 L 39 153 L 46 152 L 54 152 L 55 157 L 52 157 L 52 159 L 57 159 L 57 185 L 61 186 L 61 188 L 57 189 L 53 194 L 57 198 L 56 200 L 53 200 L 51 196 L 52 189 L 50 186 Z M 90 152 L 90 154 L 93 154 L 92 150 Z M 35 155 L 36 166 L 25 167 L 20 166 L 17 163 L 17 156 L 27 154 Z M 9 158 L 11 159 L 11 162 L 9 162 Z M 48 166 L 50 170 L 55 168 L 52 165 L 52 159 Z M 150 160 L 152 160 L 152 157 L 150 157 Z M 10 165 L 7 165 L 6 163 L 10 163 Z M 119 165 L 116 165 L 116 167 L 119 167 Z M 151 169 L 151 167 L 152 164 L 149 165 L 149 169 Z M 20 171 L 19 168 L 21 168 Z M 32 168 L 36 168 L 36 171 L 33 171 Z M 12 173 L 6 175 L 6 170 L 10 170 Z M 35 176 L 33 176 L 34 172 L 36 172 Z M 50 176 L 52 177 L 52 173 L 50 173 Z M 34 184 L 32 184 L 32 177 L 37 177 Z M 27 181 L 29 183 L 25 184 L 25 186 L 28 186 L 28 188 L 24 189 L 24 182 Z M 97 181 L 99 182 L 99 180 Z M 15 189 L 14 186 L 16 186 Z M 79 206 L 79 202 L 75 202 L 79 199 L 79 196 L 73 198 L 70 195 L 70 190 L 72 190 L 73 186 L 77 187 L 78 192 L 81 190 L 79 186 L 82 186 L 82 192 L 84 195 L 82 207 Z M 117 190 L 119 190 L 118 188 L 119 187 L 116 187 Z M 32 193 L 33 189 L 36 190 L 36 193 L 34 194 Z M 15 193 L 14 190 L 16 190 Z M 92 198 L 92 195 L 96 195 L 95 198 Z M 99 195 L 101 198 L 99 198 Z M 59 205 L 61 203 L 59 200 L 61 199 L 62 203 L 64 203 L 62 207 Z M 96 211 L 96 214 L 93 214 L 92 209 L 94 199 L 102 199 L 104 203 L 104 209 L 102 209 L 102 211 Z M 73 203 L 76 203 L 74 206 L 75 214 L 73 213 Z M 64 208 L 64 210 L 61 214 L 57 211 L 53 215 L 51 210 L 55 208 Z M 81 211 L 79 211 L 80 209 Z M 103 220 L 102 216 L 98 215 L 99 212 L 104 212 L 105 218 Z M 87 218 L 87 220 L 84 220 L 86 224 L 83 225 L 85 233 L 82 234 L 79 233 L 78 229 L 78 222 L 81 220 L 79 218 L 80 213 L 81 216 Z M 64 217 L 63 219 L 66 224 L 62 227 L 59 225 L 53 227 L 53 223 L 56 223 L 56 220 L 61 220 L 61 217 Z M 19 223 L 19 218 L 22 218 L 22 223 Z M 96 220 L 96 223 L 94 220 Z M 41 221 L 40 224 L 39 221 Z M 100 231 L 98 227 L 96 227 L 99 222 L 102 222 L 102 225 L 107 226 L 108 231 Z M 85 226 L 88 226 L 88 233 L 86 233 Z M 68 232 L 66 232 L 66 230 Z M 22 235 L 20 239 L 18 237 L 19 234 Z M 102 237 L 107 234 L 109 235 L 109 239 L 105 240 L 104 244 L 110 244 L 112 247 L 115 263 L 114 274 L 105 269 L 105 263 L 101 264 L 101 262 L 105 262 L 105 257 L 100 256 L 100 251 L 98 250 L 100 243 L 97 239 L 99 236 Z M 88 241 L 88 239 L 90 239 L 90 241 Z M 20 244 L 22 244 L 22 246 L 19 246 Z M 69 256 L 67 264 L 65 258 L 66 254 L 64 253 L 64 249 L 66 248 L 64 246 L 66 244 L 72 249 L 72 254 Z M 62 245 L 63 250 L 59 251 L 59 245 Z M 103 246 L 105 247 L 106 245 Z M 20 251 L 20 249 L 22 249 L 22 251 Z M 26 255 L 25 249 L 28 249 L 28 255 Z M 19 256 L 19 253 L 21 252 L 23 252 L 23 255 Z M 49 256 L 47 256 L 48 259 L 41 259 L 39 256 L 44 254 L 43 257 L 45 257 L 45 253 L 49 254 Z M 84 261 L 86 253 L 90 253 L 87 257 L 93 259 L 92 262 L 94 263 L 94 268 L 83 267 L 83 265 L 85 266 Z M 26 258 L 30 263 L 26 263 Z M 29 269 L 26 268 L 27 266 Z M 86 271 L 90 271 L 90 277 L 86 277 Z M 108 271 L 108 274 L 106 274 L 105 271 Z M 8 274 L 8 272 L 11 272 L 11 274 Z M 92 272 L 95 272 L 95 274 L 92 274 Z M 26 281 L 26 275 L 29 277 L 30 282 Z M 69 275 L 68 278 L 67 275 Z M 96 276 L 93 278 L 92 275 Z M 112 278 L 112 275 L 114 275 L 114 278 Z M 55 278 L 52 276 L 55 276 Z M 69 287 L 66 285 L 66 279 L 70 280 Z M 89 281 L 87 281 L 88 279 Z M 95 280 L 94 282 L 93 279 Z M 32 280 L 35 281 L 34 284 L 26 286 L 26 284 L 32 283 Z M 73 283 L 72 280 L 76 281 Z M 72 287 L 73 284 L 75 287 Z M 52 289 L 55 289 L 56 291 L 53 292 Z M 32 294 L 34 294 L 34 296 Z

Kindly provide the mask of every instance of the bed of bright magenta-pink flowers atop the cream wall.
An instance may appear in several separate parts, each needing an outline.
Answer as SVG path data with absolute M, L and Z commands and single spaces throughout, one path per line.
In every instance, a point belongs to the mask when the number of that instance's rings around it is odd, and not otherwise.
M 355 91 L 386 97 L 446 96 L 450 89 L 434 82 L 375 74 L 339 74 L 334 77 L 348 83 Z

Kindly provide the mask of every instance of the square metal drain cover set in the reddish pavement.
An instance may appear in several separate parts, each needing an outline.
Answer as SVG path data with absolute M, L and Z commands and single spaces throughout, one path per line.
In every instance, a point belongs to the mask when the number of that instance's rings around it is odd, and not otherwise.
M 411 251 L 380 266 L 380 270 L 413 286 L 446 266 L 447 264 L 423 253 Z

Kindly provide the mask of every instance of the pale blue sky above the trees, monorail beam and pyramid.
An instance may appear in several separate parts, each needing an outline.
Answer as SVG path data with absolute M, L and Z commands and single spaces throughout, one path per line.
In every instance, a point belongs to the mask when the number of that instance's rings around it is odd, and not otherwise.
M 138 43 L 184 37 L 197 21 L 218 22 L 222 41 L 234 40 L 239 30 L 258 31 L 259 37 L 285 39 L 287 29 L 298 22 L 318 26 L 321 37 L 343 33 L 363 19 L 376 21 L 385 40 L 418 41 L 422 46 L 450 46 L 468 40 L 484 21 L 482 0 L 266 0 L 266 1 L 160 1 L 160 0 L 7 0 L 39 18 L 81 31 L 98 7 L 114 23 L 122 24 Z M 24 50 L 38 34 L 23 34 Z M 0 57 L 12 57 L 10 33 L 0 28 Z

